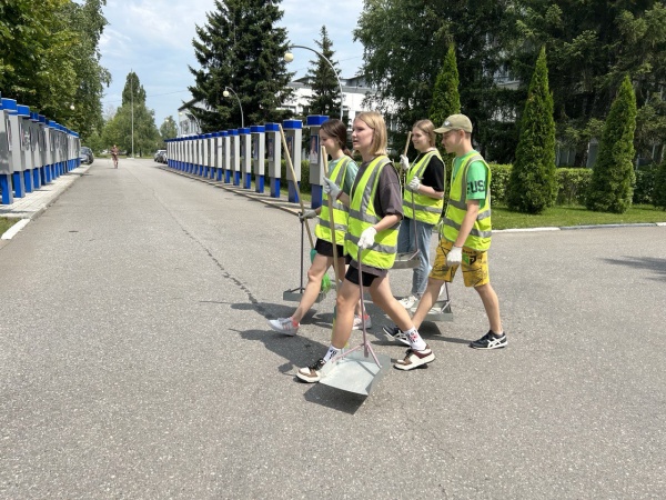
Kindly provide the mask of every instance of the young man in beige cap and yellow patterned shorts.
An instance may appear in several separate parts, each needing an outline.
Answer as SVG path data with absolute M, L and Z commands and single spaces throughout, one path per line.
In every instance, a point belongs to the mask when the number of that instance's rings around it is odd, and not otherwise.
M 421 326 L 444 282 L 453 281 L 458 267 L 462 267 L 465 286 L 474 287 L 481 297 L 491 327 L 485 336 L 471 342 L 470 347 L 501 349 L 506 347 L 507 340 L 502 329 L 500 301 L 491 286 L 487 258 L 492 233 L 491 169 L 472 147 L 472 122 L 466 116 L 452 114 L 435 132 L 442 133 L 442 144 L 446 152 L 455 153 L 455 158 L 442 239 L 413 321 L 416 327 Z M 384 331 L 394 339 L 406 342 L 406 336 L 400 326 L 385 327 Z

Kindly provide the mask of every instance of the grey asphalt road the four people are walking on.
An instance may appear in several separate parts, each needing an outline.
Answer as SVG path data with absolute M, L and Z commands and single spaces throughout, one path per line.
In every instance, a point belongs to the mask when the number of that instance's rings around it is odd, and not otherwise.
M 332 294 L 297 337 L 266 327 L 295 308 L 300 238 L 283 210 L 95 161 L 0 249 L 0 498 L 666 497 L 666 228 L 495 234 L 508 348 L 467 347 L 487 323 L 461 279 L 454 321 L 423 328 L 437 359 L 366 399 L 294 378 Z

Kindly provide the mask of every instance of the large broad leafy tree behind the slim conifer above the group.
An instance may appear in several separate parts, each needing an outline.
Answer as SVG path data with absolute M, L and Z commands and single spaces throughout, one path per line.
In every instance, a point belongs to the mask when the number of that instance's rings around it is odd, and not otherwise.
M 393 118 L 403 131 L 428 117 L 442 50 L 455 43 L 461 109 L 475 123 L 480 151 L 485 156 L 485 149 L 493 148 L 513 156 L 514 134 L 496 124 L 503 122 L 503 116 L 515 114 L 516 97 L 503 92 L 493 76 L 504 68 L 512 46 L 514 3 L 482 0 L 470 7 L 468 2 L 366 0 L 354 39 L 363 43 L 363 74 L 379 90 L 370 104 L 384 110 L 392 101 Z M 508 112 L 498 116 L 505 107 Z M 509 147 L 500 143 L 506 140 L 514 142 Z

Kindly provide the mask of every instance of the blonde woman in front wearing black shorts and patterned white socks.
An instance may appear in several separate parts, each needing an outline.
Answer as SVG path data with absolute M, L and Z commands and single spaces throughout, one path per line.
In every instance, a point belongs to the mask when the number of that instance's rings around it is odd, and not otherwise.
M 393 298 L 389 269 L 397 252 L 397 230 L 402 219 L 402 196 L 395 169 L 386 157 L 386 126 L 381 114 L 365 111 L 356 116 L 352 128 L 352 143 L 363 162 L 352 187 L 351 198 L 333 181 L 326 180 L 324 190 L 334 199 L 349 203 L 350 217 L 344 246 L 351 259 L 350 267 L 336 299 L 337 317 L 333 326 L 331 346 L 323 358 L 301 368 L 296 377 L 304 382 L 319 382 L 333 366 L 337 353 L 352 333 L 354 308 L 361 299 L 360 280 L 367 287 L 375 306 L 380 307 L 406 333 L 410 349 L 394 366 L 411 370 L 435 359 L 435 354 L 413 327 L 408 312 Z M 359 250 L 362 250 L 362 273 Z

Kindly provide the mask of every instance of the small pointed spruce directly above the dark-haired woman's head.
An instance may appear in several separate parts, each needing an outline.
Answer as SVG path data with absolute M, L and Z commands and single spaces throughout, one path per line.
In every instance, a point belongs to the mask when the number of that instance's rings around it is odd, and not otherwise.
M 322 26 L 320 34 L 322 39 L 314 42 L 333 68 L 321 57 L 317 57 L 316 61 L 310 61 L 311 66 L 307 70 L 307 77 L 310 78 L 310 86 L 313 92 L 309 99 L 310 114 L 326 114 L 331 118 L 341 118 L 340 86 L 337 84 L 340 70 L 337 69 L 337 61 L 333 61 L 333 54 L 335 53 L 331 48 L 333 42 L 329 38 L 325 26 Z

